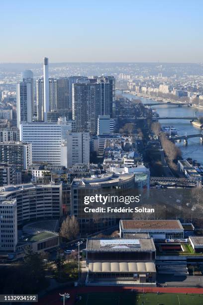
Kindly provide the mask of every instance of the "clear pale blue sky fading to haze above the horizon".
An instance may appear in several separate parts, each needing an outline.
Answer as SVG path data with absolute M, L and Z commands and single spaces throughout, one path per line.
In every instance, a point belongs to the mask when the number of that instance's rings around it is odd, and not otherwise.
M 203 0 L 0 0 L 0 62 L 203 62 Z

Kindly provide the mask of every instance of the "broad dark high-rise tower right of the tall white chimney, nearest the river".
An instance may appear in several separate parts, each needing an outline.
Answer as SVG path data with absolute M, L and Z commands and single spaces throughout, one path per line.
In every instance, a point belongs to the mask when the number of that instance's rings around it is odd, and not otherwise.
M 76 131 L 97 134 L 98 116 L 112 117 L 114 78 L 101 76 L 78 79 L 72 88 L 73 119 Z

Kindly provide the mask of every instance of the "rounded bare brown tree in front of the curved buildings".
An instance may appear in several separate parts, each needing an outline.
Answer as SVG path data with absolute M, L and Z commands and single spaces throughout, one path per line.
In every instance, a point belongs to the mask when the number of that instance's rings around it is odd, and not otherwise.
M 75 216 L 67 216 L 61 225 L 60 235 L 69 240 L 73 240 L 79 233 L 79 223 Z

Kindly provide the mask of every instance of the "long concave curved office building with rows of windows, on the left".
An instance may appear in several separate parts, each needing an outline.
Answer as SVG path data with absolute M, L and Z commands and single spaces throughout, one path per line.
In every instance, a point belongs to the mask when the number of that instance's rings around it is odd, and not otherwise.
M 16 199 L 17 225 L 62 216 L 62 184 L 19 184 L 0 188 L 0 200 Z

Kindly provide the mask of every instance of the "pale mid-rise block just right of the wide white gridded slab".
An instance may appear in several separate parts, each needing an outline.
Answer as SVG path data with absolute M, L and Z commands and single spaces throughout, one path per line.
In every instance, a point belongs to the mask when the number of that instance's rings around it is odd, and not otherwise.
M 67 159 L 66 167 L 76 163 L 89 164 L 90 162 L 90 134 L 68 133 L 67 142 L 63 146 L 63 159 Z

